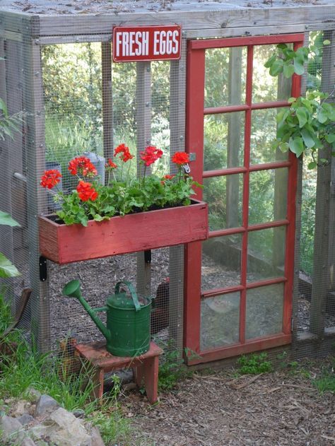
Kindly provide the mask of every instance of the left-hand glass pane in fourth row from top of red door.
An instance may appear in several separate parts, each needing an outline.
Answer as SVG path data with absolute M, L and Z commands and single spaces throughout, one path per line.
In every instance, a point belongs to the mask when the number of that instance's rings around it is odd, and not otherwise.
M 242 235 L 213 237 L 202 244 L 202 291 L 240 285 Z

